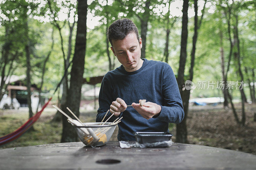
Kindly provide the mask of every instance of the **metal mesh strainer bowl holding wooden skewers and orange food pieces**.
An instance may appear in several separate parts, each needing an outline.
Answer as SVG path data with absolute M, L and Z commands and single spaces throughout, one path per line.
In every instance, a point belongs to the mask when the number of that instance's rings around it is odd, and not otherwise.
M 116 118 L 114 122 L 108 122 L 108 120 L 114 115 L 114 113 L 109 116 L 109 118 L 105 121 L 106 115 L 108 114 L 109 110 L 103 117 L 101 122 L 91 122 L 91 123 L 82 123 L 78 117 L 67 107 L 68 111 L 77 119 L 72 119 L 68 116 L 65 112 L 63 112 L 59 107 L 53 105 L 57 110 L 60 111 L 63 115 L 68 118 L 68 122 L 71 123 L 78 134 L 78 137 L 86 146 L 100 146 L 106 144 L 110 137 L 112 136 L 117 123 L 121 122 L 120 118 Z

